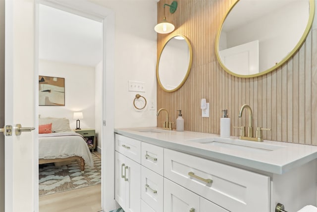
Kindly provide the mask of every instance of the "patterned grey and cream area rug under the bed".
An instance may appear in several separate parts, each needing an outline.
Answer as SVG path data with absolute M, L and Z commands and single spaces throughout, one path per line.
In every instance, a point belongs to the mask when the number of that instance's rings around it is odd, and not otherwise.
M 79 189 L 101 184 L 101 159 L 92 153 L 94 167 L 85 166 L 81 173 L 76 161 L 64 166 L 53 163 L 43 164 L 39 168 L 39 195 Z

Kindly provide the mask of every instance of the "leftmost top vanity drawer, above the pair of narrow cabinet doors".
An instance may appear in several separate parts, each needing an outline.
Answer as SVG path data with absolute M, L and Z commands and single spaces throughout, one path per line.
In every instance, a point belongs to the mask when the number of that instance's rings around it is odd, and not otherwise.
M 115 150 L 141 163 L 141 141 L 115 134 Z

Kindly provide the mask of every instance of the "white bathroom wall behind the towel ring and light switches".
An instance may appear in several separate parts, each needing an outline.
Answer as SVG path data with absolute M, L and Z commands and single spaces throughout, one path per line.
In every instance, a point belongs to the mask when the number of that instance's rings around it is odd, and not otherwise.
M 156 104 L 157 2 L 91 1 L 115 12 L 115 128 L 157 126 L 156 110 L 134 109 L 138 92 L 128 92 L 128 80 L 143 81 L 146 92 L 140 94 Z

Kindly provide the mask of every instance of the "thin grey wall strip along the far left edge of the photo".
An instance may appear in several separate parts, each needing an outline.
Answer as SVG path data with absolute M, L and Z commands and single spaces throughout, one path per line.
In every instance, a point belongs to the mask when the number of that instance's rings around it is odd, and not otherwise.
M 4 0 L 0 0 L 0 128 L 4 126 Z M 4 212 L 4 136 L 0 134 L 0 212 Z

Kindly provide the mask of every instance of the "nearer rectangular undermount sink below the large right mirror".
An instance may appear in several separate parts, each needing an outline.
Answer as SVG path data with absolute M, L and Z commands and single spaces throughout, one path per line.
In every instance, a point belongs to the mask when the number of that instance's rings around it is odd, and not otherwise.
M 268 144 L 257 141 L 242 141 L 225 138 L 206 138 L 206 139 L 193 139 L 187 140 L 192 142 L 198 142 L 206 145 L 219 146 L 228 149 L 236 149 L 248 152 L 269 152 L 274 151 L 285 146 Z

